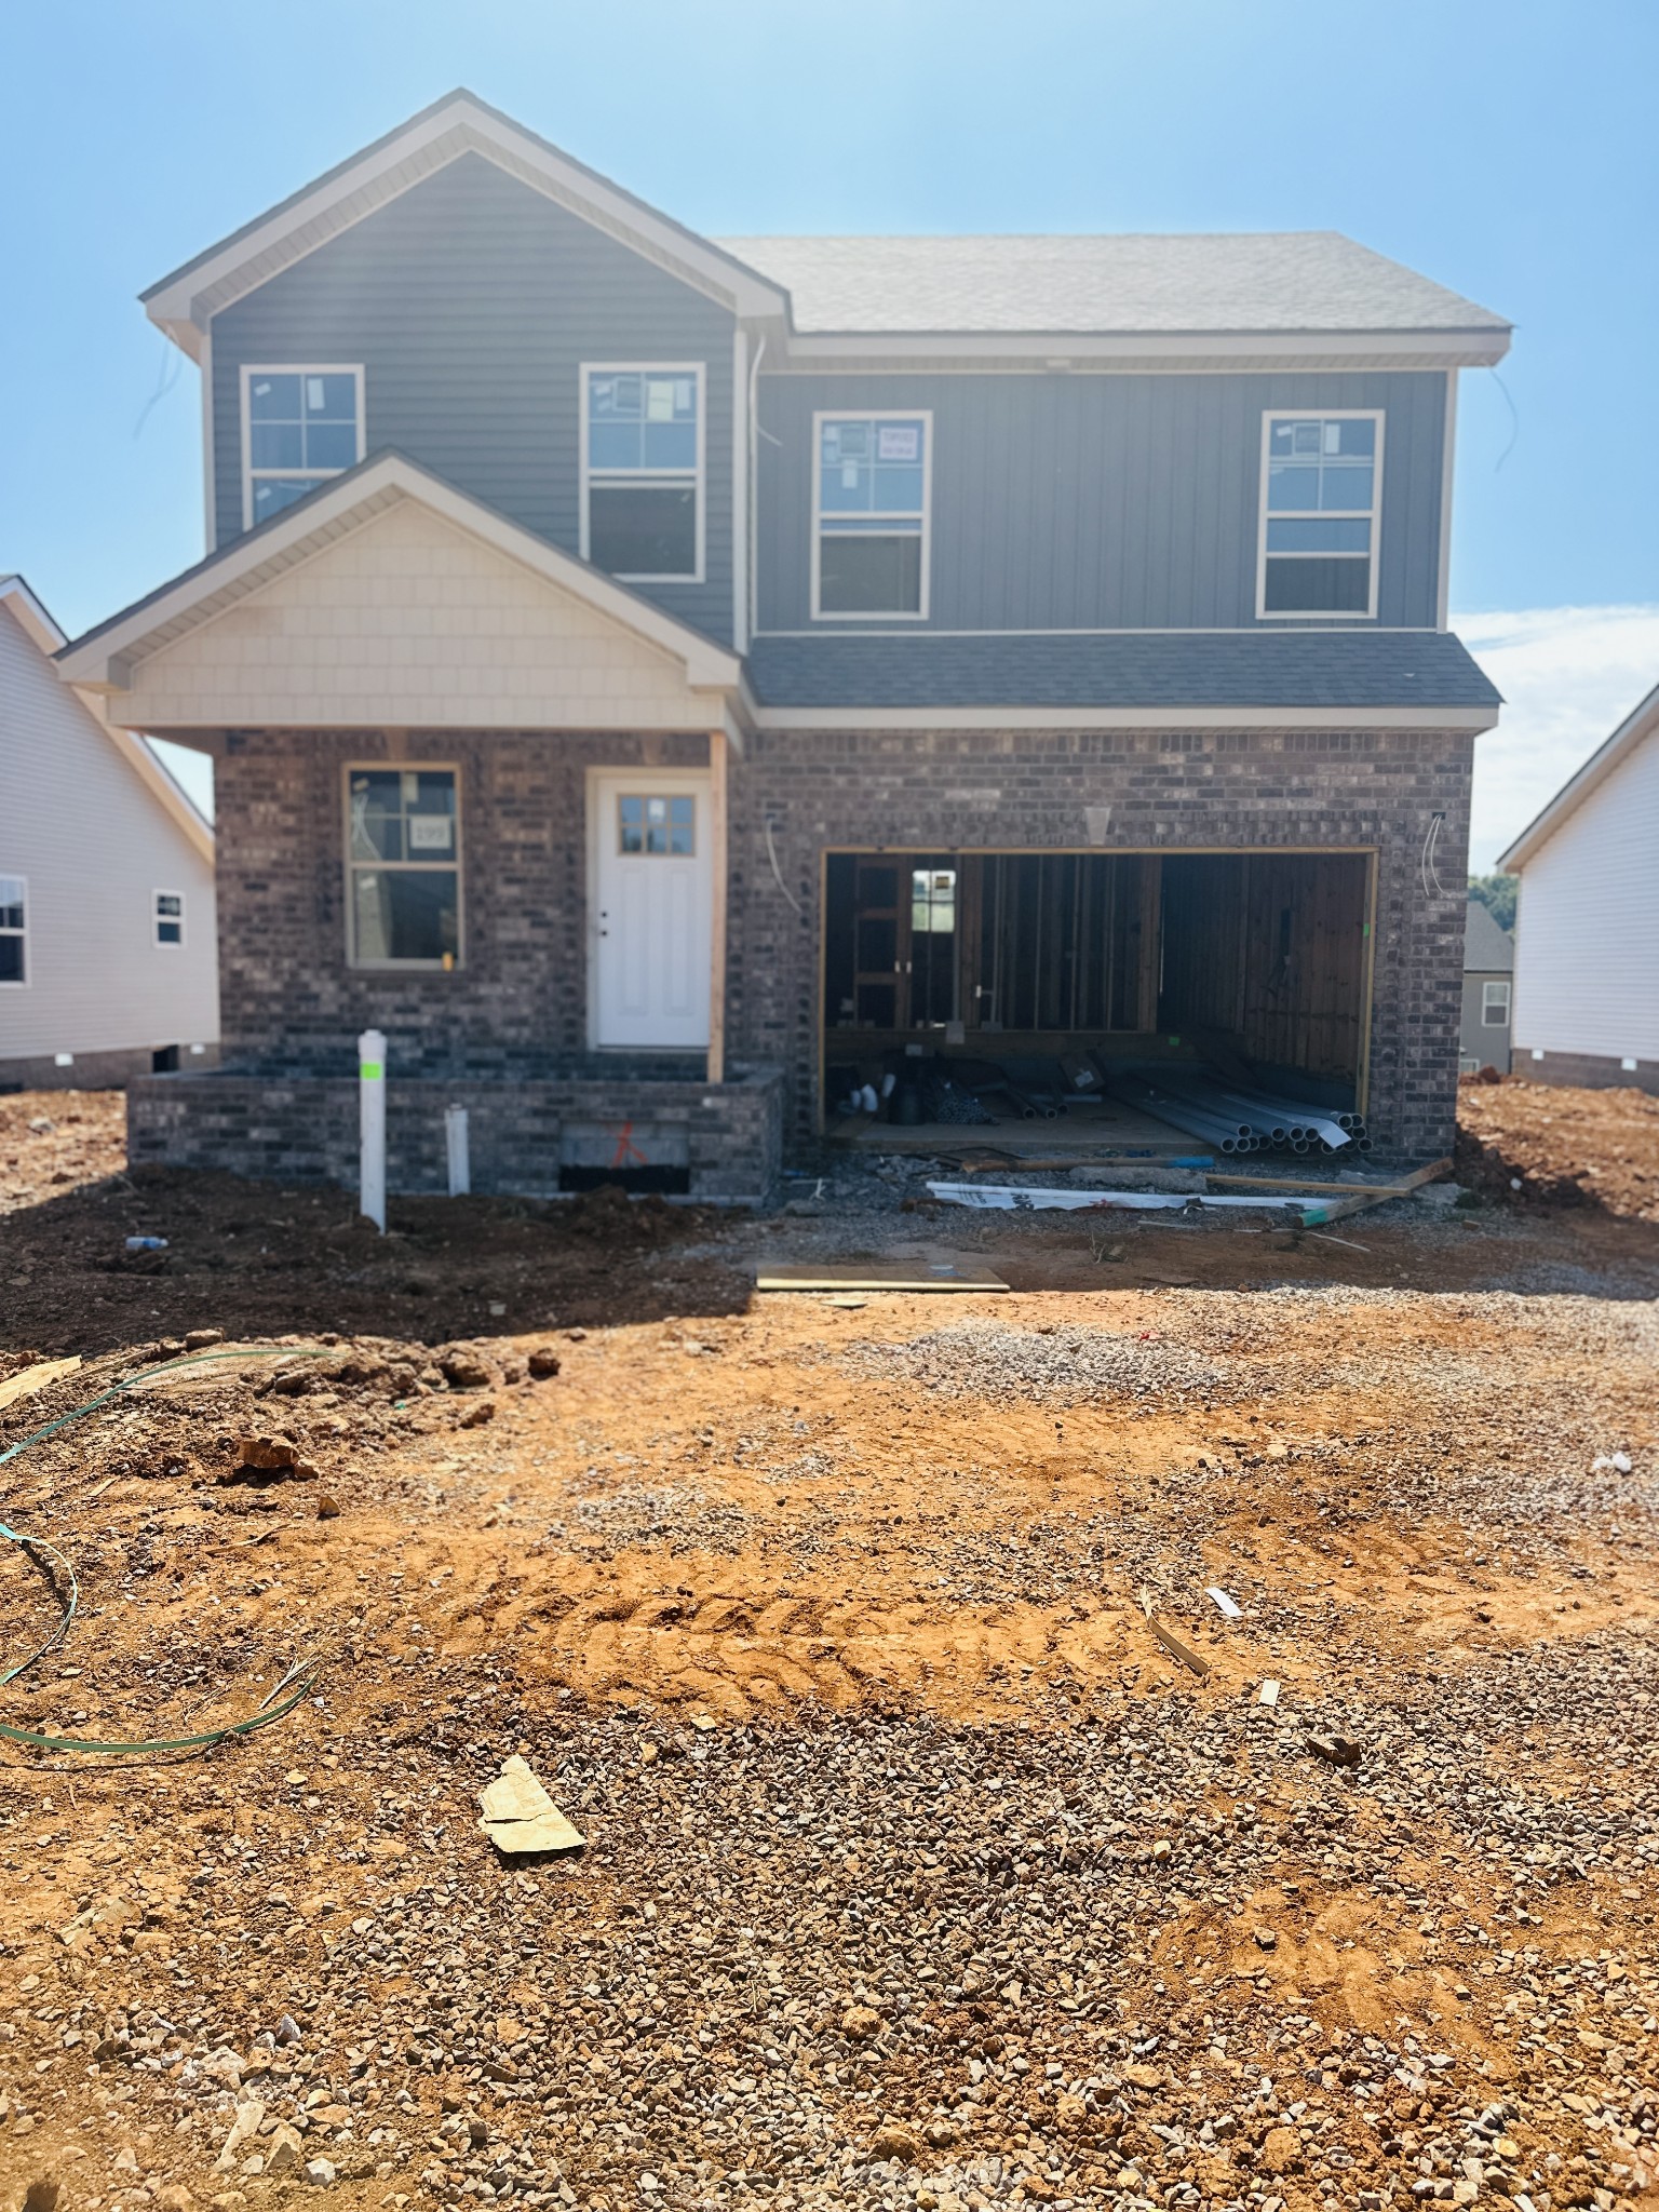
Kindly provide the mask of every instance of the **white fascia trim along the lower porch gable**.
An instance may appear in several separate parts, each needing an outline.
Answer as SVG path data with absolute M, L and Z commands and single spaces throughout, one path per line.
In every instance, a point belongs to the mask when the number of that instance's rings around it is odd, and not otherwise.
M 608 615 L 624 630 L 657 646 L 657 650 L 684 666 L 686 684 L 692 690 L 728 692 L 737 686 L 743 670 L 737 653 L 717 646 L 701 630 L 675 622 L 672 615 L 664 615 L 648 599 L 624 591 L 611 577 L 599 575 L 568 553 L 560 553 L 557 546 L 531 535 L 531 531 L 520 529 L 493 509 L 480 507 L 465 491 L 456 491 L 453 484 L 427 476 L 425 469 L 405 460 L 403 453 L 383 453 L 367 467 L 352 469 L 332 491 L 312 495 L 299 507 L 288 509 L 288 513 L 276 515 L 263 529 L 239 538 L 228 553 L 179 577 L 173 588 L 142 602 L 131 615 L 117 617 L 84 641 L 69 646 L 58 655 L 58 672 L 66 684 L 88 686 L 91 690 L 126 690 L 131 661 L 142 657 L 146 641 L 157 630 L 188 617 L 206 599 L 217 602 L 221 593 L 234 586 L 243 586 L 237 593 L 239 597 L 257 591 L 265 580 L 265 571 L 276 573 L 279 568 L 288 568 L 296 557 L 307 557 L 307 551 L 327 551 L 338 544 L 341 526 L 349 529 L 356 509 L 372 509 L 361 518 L 365 524 L 383 513 L 385 493 L 389 491 L 431 509 L 440 520 L 482 540 L 493 551 L 540 575 L 546 584 L 568 591 L 573 599 L 582 599 L 595 613 Z M 316 546 L 307 549 L 307 540 L 312 538 Z M 219 613 L 219 606 L 212 613 Z

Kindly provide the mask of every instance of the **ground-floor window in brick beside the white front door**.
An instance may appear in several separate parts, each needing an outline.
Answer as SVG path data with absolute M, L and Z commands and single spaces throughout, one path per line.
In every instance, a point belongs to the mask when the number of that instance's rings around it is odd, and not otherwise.
M 453 768 L 347 768 L 347 929 L 354 967 L 460 960 Z

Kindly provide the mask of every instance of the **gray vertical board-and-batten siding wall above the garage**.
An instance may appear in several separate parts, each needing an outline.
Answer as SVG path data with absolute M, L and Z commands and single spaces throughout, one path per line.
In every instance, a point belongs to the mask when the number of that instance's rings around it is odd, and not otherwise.
M 759 628 L 812 624 L 812 416 L 836 407 L 933 411 L 938 630 L 1254 626 L 1263 411 L 1380 407 L 1376 622 L 1431 628 L 1444 400 L 1438 372 L 763 376 Z

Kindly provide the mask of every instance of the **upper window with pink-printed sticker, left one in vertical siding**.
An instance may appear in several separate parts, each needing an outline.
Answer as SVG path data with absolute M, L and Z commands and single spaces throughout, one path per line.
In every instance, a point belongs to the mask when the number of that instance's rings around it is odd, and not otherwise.
M 933 416 L 812 418 L 812 613 L 927 615 Z

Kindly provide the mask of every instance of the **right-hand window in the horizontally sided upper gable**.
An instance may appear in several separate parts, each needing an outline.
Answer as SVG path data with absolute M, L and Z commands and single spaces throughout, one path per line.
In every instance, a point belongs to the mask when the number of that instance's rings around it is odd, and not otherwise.
M 703 580 L 701 365 L 584 365 L 582 560 L 630 584 Z

